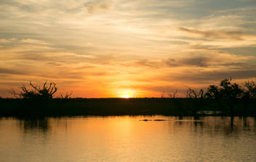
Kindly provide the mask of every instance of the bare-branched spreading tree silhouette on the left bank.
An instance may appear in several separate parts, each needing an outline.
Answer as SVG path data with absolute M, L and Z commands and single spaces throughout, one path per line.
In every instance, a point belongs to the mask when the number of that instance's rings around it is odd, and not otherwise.
M 54 93 L 57 92 L 57 86 L 55 82 L 44 82 L 43 88 L 40 88 L 38 85 L 33 85 L 30 81 L 30 89 L 26 88 L 25 85 L 20 87 L 21 91 L 16 93 L 15 90 L 12 89 L 12 95 L 20 98 L 29 98 L 29 99 L 36 99 L 36 98 L 44 98 L 49 99 L 52 98 Z

